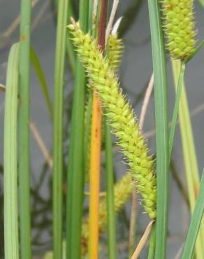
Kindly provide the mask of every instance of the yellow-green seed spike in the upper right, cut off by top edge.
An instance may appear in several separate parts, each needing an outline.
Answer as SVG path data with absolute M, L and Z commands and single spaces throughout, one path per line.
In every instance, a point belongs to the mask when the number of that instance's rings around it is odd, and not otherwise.
M 193 2 L 193 0 L 161 1 L 168 50 L 175 59 L 187 59 L 195 50 Z

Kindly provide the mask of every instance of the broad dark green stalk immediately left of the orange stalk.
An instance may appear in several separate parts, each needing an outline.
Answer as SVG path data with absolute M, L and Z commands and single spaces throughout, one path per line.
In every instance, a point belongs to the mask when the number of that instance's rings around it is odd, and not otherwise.
M 80 24 L 87 31 L 88 0 L 80 0 Z M 84 125 L 85 125 L 85 71 L 76 59 L 71 137 L 68 154 L 67 207 L 66 207 L 66 253 L 67 258 L 80 259 L 84 168 Z

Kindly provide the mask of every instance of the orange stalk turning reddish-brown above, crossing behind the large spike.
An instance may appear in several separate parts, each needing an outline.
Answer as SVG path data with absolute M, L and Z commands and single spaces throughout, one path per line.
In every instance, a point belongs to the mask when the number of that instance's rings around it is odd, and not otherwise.
M 98 43 L 105 50 L 105 27 L 108 2 L 101 0 Z M 89 258 L 97 259 L 99 251 L 99 190 L 101 172 L 101 101 L 94 90 L 90 154 Z

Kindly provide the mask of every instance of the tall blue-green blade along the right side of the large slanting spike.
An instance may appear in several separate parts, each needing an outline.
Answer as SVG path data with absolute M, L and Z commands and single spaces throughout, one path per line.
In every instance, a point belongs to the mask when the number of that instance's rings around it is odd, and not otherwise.
M 156 251 L 166 258 L 168 220 L 168 97 L 166 59 L 161 29 L 160 6 L 149 0 L 150 31 L 154 69 L 154 104 L 156 118 Z

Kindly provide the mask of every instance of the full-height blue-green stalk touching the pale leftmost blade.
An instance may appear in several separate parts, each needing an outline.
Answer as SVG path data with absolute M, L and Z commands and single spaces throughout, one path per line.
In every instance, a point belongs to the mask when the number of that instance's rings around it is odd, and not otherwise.
M 20 201 L 20 251 L 22 259 L 31 258 L 30 214 L 30 37 L 31 0 L 21 1 L 20 56 L 19 56 L 19 201 Z

